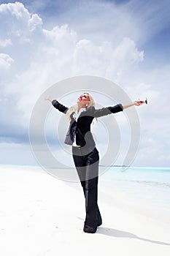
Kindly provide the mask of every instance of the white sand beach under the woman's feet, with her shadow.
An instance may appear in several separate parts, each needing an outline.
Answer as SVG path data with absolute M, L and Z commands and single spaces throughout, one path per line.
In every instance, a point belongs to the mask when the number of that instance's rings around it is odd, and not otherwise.
M 60 181 L 39 167 L 1 166 L 0 254 L 170 255 L 166 222 L 136 211 L 119 193 L 115 200 L 108 195 L 99 181 L 103 225 L 95 234 L 83 233 L 85 201 L 80 184 Z

